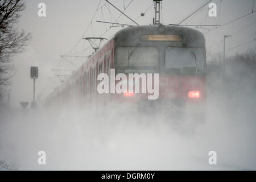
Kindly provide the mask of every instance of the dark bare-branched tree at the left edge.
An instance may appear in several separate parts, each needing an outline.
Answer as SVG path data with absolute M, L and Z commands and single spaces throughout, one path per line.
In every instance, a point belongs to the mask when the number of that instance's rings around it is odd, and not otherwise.
M 21 0 L 0 0 L 0 97 L 11 83 L 13 56 L 24 51 L 31 39 L 30 33 L 18 30 L 20 13 L 24 9 L 25 4 Z

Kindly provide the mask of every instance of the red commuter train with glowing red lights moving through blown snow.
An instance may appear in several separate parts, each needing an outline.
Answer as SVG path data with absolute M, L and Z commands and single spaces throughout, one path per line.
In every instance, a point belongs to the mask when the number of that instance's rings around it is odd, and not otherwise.
M 159 95 L 98 93 L 98 75 L 158 74 Z M 204 35 L 193 28 L 152 24 L 122 28 L 71 76 L 57 87 L 46 103 L 76 100 L 79 105 L 106 106 L 116 102 L 135 105 L 138 111 L 188 111 L 205 115 L 207 61 Z M 113 84 L 113 83 L 109 83 Z M 118 81 L 114 80 L 114 85 Z M 200 117 L 199 117 L 200 118 Z

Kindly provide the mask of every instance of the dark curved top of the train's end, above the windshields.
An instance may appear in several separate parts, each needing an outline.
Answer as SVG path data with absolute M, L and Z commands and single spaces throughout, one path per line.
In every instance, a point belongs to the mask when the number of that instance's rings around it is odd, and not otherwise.
M 143 35 L 150 36 L 182 36 L 181 41 L 154 41 L 154 44 L 161 44 L 165 46 L 175 47 L 205 47 L 204 35 L 193 28 L 173 25 L 154 24 L 146 26 L 134 26 L 127 27 L 119 30 L 113 37 L 115 46 L 137 46 L 141 44 L 143 46 L 152 45 L 152 41 L 143 41 Z M 151 43 L 150 43 L 151 42 Z

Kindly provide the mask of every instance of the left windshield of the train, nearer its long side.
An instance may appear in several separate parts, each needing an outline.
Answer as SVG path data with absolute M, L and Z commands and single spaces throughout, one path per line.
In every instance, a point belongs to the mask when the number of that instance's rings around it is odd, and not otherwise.
M 117 72 L 158 72 L 159 51 L 156 47 L 117 47 Z

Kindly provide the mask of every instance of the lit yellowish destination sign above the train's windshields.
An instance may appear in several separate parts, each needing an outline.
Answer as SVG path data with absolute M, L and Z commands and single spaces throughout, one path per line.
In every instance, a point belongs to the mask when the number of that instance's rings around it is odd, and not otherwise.
M 142 41 L 182 41 L 181 35 L 142 35 Z

